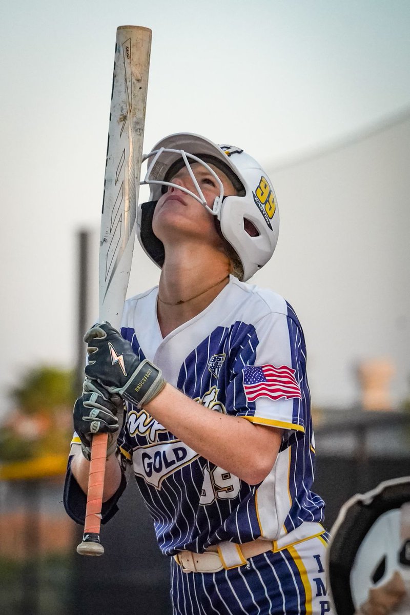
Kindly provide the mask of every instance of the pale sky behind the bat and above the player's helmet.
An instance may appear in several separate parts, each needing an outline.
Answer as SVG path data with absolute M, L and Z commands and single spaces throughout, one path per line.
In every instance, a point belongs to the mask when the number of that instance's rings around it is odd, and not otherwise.
M 16 0 L 1 12 L 0 415 L 28 368 L 75 360 L 76 232 L 100 224 L 117 26 L 152 29 L 145 151 L 194 132 L 275 168 L 410 107 L 408 0 Z M 156 283 L 150 267 L 128 294 Z

